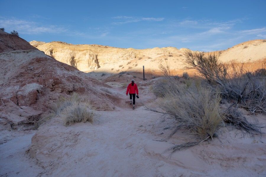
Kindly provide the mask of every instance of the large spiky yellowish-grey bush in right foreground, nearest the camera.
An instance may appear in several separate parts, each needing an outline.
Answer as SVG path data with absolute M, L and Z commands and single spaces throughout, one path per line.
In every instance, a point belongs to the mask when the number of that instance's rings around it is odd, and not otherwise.
M 167 80 L 172 87 L 165 87 L 163 98 L 156 103 L 158 107 L 146 109 L 175 119 L 171 135 L 182 129 L 202 139 L 213 138 L 218 126 L 223 122 L 219 92 L 195 83 L 187 88 L 173 78 Z

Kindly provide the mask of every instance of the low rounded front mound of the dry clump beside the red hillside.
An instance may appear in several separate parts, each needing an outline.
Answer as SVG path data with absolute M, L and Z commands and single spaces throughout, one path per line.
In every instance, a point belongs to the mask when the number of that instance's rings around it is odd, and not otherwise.
M 93 122 L 93 113 L 89 111 L 85 103 L 75 102 L 65 109 L 61 116 L 66 126 L 76 122 Z

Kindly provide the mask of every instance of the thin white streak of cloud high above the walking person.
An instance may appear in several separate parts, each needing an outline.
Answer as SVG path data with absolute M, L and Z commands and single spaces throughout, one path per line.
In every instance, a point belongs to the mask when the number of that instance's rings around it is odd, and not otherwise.
M 164 20 L 164 18 L 154 18 L 154 17 L 128 17 L 128 16 L 117 16 L 117 17 L 112 17 L 112 19 L 119 20 L 118 22 L 112 22 L 112 24 L 126 24 L 126 23 L 134 23 L 134 22 L 141 22 L 141 21 L 160 22 L 160 21 L 163 21 Z

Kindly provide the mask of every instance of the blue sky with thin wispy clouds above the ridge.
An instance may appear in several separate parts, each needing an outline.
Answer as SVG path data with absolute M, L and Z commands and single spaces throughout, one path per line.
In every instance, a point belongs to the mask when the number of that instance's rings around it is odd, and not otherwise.
M 211 51 L 266 39 L 266 0 L 1 0 L 0 6 L 0 27 L 27 41 Z

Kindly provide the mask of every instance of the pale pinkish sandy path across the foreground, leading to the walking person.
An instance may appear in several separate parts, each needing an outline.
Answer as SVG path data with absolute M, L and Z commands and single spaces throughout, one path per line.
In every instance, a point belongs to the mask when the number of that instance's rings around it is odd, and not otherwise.
M 113 91 L 121 94 L 125 89 Z M 34 136 L 35 131 L 32 131 L 0 145 L 1 152 L 5 152 L 1 155 L 4 162 L 0 162 L 0 174 L 64 177 L 266 174 L 265 143 L 257 137 L 235 137 L 235 131 L 229 130 L 223 132 L 220 140 L 176 152 L 169 158 L 163 151 L 188 137 L 178 132 L 167 142 L 154 141 L 167 137 L 170 131 L 164 128 L 172 120 L 163 120 L 160 115 L 138 106 L 153 99 L 150 94 L 140 96 L 136 99 L 135 110 L 129 105 L 129 98 L 121 94 L 116 111 L 95 111 L 93 124 L 76 123 L 65 127 L 55 118 L 41 126 Z M 30 154 L 34 158 L 25 155 L 32 136 Z M 262 141 L 266 141 L 265 135 Z M 10 155 L 13 157 L 9 158 Z

